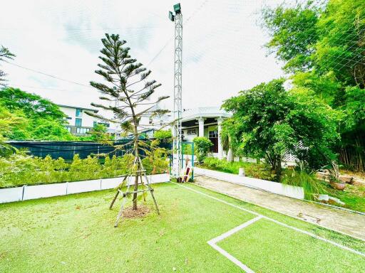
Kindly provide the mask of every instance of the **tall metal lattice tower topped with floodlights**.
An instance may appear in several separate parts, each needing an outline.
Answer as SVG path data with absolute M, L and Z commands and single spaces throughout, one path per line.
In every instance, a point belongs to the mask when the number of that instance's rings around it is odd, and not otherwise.
M 182 71 L 183 71 L 183 14 L 180 4 L 174 6 L 175 16 L 170 12 L 170 20 L 175 21 L 175 63 L 174 63 L 174 109 L 173 109 L 173 176 L 180 177 L 183 155 L 181 154 Z

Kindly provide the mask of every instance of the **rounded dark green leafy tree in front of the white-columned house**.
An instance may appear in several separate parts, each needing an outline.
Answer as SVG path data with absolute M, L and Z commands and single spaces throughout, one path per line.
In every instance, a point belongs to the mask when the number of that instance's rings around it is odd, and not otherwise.
M 287 92 L 283 82 L 272 80 L 241 91 L 222 106 L 233 113 L 242 153 L 267 159 L 278 179 L 285 152 L 312 164 L 310 158 L 314 151 L 322 160 L 333 158 L 331 146 L 339 138 L 336 132 L 339 113 L 309 90 L 298 88 Z

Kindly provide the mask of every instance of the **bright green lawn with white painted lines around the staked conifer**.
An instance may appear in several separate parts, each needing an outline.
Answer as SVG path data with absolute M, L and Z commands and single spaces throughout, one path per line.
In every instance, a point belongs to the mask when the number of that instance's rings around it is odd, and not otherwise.
M 194 185 L 197 191 L 365 252 L 365 242 Z M 0 205 L 0 272 L 242 272 L 207 244 L 255 215 L 166 183 L 161 215 L 113 228 L 113 191 Z M 365 258 L 261 219 L 219 242 L 255 272 L 361 272 Z

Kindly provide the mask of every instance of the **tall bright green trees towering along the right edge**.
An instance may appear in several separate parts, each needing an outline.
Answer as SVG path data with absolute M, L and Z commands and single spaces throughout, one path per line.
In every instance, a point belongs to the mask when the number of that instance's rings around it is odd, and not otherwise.
M 343 111 L 340 160 L 365 170 L 365 1 L 307 1 L 262 11 L 269 52 L 294 72 L 293 83 L 306 87 L 323 102 Z

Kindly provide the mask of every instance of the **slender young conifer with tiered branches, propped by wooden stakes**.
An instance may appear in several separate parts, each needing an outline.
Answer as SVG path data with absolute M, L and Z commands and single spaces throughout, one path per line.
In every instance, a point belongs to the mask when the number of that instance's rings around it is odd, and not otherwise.
M 103 77 L 107 84 L 91 82 L 91 85 L 104 95 L 100 99 L 109 103 L 108 105 L 96 103 L 92 105 L 113 112 L 124 133 L 126 135 L 133 134 L 133 155 L 138 158 L 140 149 L 145 149 L 148 146 L 147 141 L 140 137 L 142 134 L 139 126 L 140 117 L 154 117 L 169 112 L 155 107 L 158 102 L 168 97 L 158 97 L 153 102 L 146 101 L 160 87 L 160 84 L 155 80 L 147 80 L 151 71 L 146 70 L 142 63 L 137 63 L 136 59 L 130 57 L 130 48 L 125 46 L 127 42 L 120 40 L 118 35 L 106 34 L 106 38 L 101 39 L 101 42 L 103 49 L 99 58 L 102 63 L 98 65 L 101 70 L 96 70 L 96 74 Z M 106 119 L 94 113 L 86 113 L 93 117 L 115 122 L 115 120 Z M 142 169 L 140 161 L 137 162 L 137 171 L 140 171 Z M 137 210 L 137 191 L 138 176 L 135 176 L 133 210 Z

